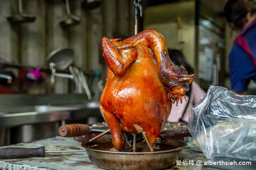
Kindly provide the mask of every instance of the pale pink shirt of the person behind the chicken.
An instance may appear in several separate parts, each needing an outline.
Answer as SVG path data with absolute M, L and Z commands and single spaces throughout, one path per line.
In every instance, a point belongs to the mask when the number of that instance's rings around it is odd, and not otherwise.
M 188 104 L 188 107 L 186 108 L 186 111 L 184 113 L 182 120 L 185 122 L 188 122 L 188 116 L 191 112 L 191 108 L 206 94 L 205 91 L 196 82 L 193 82 L 191 87 L 192 87 L 191 94 L 190 94 L 191 99 L 189 100 L 189 103 L 187 102 L 189 97 L 186 95 L 187 101 L 183 99 L 182 103 L 181 104 L 178 103 L 177 107 L 176 107 L 176 103 L 173 104 L 172 110 L 167 119 L 167 122 L 175 122 L 175 123 L 179 122 L 179 119 L 182 117 L 187 104 Z

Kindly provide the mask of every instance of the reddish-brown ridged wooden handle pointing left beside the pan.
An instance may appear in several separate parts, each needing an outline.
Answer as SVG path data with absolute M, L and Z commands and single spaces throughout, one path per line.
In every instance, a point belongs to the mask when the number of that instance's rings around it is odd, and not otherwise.
M 59 128 L 59 135 L 62 137 L 77 137 L 91 133 L 90 127 L 85 124 L 67 124 Z

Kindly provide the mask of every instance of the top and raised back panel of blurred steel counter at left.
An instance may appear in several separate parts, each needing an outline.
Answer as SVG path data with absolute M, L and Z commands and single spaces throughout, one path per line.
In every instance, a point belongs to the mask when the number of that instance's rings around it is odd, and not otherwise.
M 0 95 L 0 129 L 101 116 L 99 101 L 85 94 Z

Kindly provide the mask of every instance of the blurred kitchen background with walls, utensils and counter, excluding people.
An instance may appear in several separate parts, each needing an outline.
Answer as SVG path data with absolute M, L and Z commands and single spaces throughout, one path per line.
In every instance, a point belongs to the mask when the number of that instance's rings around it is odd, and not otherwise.
M 195 81 L 230 89 L 235 32 L 224 0 L 142 0 L 138 32 L 155 29 L 181 50 Z M 67 123 L 104 121 L 101 39 L 134 35 L 132 0 L 0 0 L 0 146 L 58 135 Z M 248 94 L 255 95 L 255 83 Z

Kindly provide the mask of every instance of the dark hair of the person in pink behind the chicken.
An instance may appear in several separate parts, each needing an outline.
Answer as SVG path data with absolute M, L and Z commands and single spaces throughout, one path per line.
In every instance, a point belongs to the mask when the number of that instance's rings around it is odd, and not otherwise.
M 194 69 L 190 66 L 188 61 L 186 60 L 185 56 L 180 50 L 176 49 L 168 49 L 168 54 L 170 59 L 175 65 L 183 65 L 185 69 L 188 71 L 188 74 L 193 74 Z

